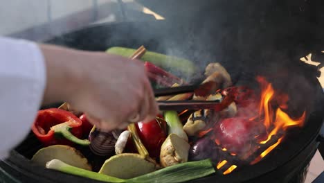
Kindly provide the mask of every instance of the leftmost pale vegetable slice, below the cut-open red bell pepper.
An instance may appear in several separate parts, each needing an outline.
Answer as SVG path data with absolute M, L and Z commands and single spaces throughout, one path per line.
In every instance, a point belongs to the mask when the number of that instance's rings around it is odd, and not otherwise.
M 91 171 L 87 158 L 79 150 L 70 146 L 54 145 L 42 148 L 35 153 L 31 161 L 40 166 L 46 166 L 46 163 L 52 159 L 60 159 L 66 164 Z

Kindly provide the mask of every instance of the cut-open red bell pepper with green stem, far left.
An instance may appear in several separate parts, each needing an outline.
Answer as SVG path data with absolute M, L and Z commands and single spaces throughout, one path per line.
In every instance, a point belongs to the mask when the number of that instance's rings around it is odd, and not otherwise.
M 44 146 L 73 143 L 88 146 L 90 141 L 82 137 L 82 121 L 71 112 L 51 108 L 39 110 L 32 130 Z

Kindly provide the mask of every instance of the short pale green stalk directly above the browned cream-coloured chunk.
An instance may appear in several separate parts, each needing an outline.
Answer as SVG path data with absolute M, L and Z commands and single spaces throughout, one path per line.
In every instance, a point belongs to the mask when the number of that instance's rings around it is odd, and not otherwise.
M 179 137 L 188 141 L 188 136 L 183 130 L 183 125 L 176 111 L 165 111 L 164 119 L 168 123 L 168 134 L 177 134 Z

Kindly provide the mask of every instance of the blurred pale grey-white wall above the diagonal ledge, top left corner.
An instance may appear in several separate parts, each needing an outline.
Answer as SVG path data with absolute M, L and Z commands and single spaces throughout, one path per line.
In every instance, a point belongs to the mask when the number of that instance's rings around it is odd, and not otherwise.
M 10 35 L 117 0 L 0 0 L 0 35 Z M 93 13 L 89 13 L 89 17 Z

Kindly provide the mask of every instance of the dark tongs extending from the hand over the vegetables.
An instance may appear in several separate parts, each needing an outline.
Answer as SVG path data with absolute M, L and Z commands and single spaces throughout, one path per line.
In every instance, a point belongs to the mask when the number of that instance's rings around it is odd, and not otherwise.
M 208 96 L 209 88 L 215 85 L 213 82 L 206 82 L 201 85 L 186 85 L 179 87 L 154 89 L 158 96 L 171 96 L 176 94 L 194 93 L 196 96 Z M 215 111 L 224 110 L 234 101 L 233 94 L 227 94 L 221 101 L 157 101 L 160 110 L 201 110 L 209 109 Z

